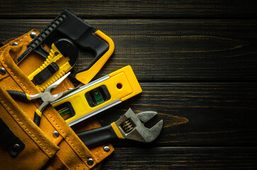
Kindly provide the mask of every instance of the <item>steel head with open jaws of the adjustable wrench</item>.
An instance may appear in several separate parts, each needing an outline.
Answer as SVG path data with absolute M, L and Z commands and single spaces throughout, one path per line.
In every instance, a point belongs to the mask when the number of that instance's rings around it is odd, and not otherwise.
M 136 115 L 130 108 L 115 124 L 125 139 L 152 142 L 159 136 L 163 120 L 160 120 L 152 128 L 146 128 L 142 122 L 146 123 L 156 114 L 156 112 L 148 111 Z

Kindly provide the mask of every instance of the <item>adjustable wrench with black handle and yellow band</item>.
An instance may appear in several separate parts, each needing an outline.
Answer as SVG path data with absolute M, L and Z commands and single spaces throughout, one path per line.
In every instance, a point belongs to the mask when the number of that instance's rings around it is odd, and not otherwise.
M 116 122 L 102 128 L 79 132 L 76 135 L 84 142 L 87 147 L 96 147 L 105 142 L 116 139 L 130 139 L 139 142 L 152 142 L 161 132 L 163 120 L 156 123 L 152 128 L 146 128 L 144 123 L 154 117 L 157 113 L 146 111 L 135 115 L 129 109 Z

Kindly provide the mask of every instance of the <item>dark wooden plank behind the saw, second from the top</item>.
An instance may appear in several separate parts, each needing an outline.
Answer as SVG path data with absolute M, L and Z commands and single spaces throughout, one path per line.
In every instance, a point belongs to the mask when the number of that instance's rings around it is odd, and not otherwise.
M 86 20 L 115 42 L 98 77 L 130 64 L 139 81 L 256 81 L 257 20 Z M 50 20 L 1 20 L 0 40 Z M 93 56 L 81 54 L 76 69 Z

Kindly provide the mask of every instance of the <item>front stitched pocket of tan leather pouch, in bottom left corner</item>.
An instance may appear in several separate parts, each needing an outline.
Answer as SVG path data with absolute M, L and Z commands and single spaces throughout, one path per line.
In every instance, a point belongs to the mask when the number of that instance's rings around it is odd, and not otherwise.
M 36 127 L 1 86 L 0 94 L 1 169 L 40 169 L 59 147 Z

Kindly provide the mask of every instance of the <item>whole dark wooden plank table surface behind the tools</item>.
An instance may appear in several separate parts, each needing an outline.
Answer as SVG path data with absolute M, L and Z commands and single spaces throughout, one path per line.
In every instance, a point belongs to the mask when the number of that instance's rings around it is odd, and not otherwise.
M 256 8 L 250 0 L 1 0 L 0 40 L 41 31 L 64 9 L 113 39 L 97 77 L 130 64 L 143 92 L 98 120 L 157 111 L 164 129 L 151 144 L 114 142 L 103 169 L 256 169 Z

